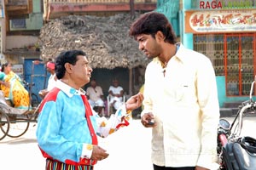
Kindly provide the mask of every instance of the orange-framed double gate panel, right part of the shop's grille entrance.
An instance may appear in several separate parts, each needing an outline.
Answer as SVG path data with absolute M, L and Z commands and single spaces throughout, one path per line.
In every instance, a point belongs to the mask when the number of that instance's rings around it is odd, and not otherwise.
M 255 34 L 224 35 L 227 95 L 249 95 L 255 75 Z M 254 94 L 254 93 L 253 93 Z

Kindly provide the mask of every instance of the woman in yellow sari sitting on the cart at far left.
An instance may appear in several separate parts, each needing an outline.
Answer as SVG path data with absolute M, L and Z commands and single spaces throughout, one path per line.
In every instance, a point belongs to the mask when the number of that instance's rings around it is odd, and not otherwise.
M 11 64 L 3 64 L 1 71 L 4 72 L 5 75 L 0 77 L 0 80 L 9 83 L 9 86 L 1 84 L 4 97 L 9 98 L 15 108 L 28 109 L 29 94 L 21 83 L 20 77 L 12 71 Z

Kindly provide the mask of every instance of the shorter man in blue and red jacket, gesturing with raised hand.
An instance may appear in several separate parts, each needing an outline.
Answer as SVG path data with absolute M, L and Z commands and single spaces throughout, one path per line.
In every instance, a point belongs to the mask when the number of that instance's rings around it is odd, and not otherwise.
M 37 139 L 47 158 L 46 170 L 92 170 L 96 161 L 108 157 L 107 150 L 97 145 L 96 134 L 107 137 L 128 125 L 131 110 L 142 103 L 143 95 L 134 95 L 112 117 L 115 120 L 102 119 L 91 111 L 82 89 L 90 82 L 91 72 L 83 51 L 66 51 L 55 59 L 58 80 L 45 96 L 38 116 Z

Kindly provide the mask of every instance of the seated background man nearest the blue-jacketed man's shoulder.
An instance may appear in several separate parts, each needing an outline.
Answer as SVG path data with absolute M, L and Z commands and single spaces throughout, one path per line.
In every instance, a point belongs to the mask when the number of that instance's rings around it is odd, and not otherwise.
M 90 87 L 86 89 L 86 96 L 89 99 L 92 108 L 97 107 L 97 113 L 102 116 L 102 109 L 104 107 L 102 87 L 96 84 L 96 80 L 90 81 Z

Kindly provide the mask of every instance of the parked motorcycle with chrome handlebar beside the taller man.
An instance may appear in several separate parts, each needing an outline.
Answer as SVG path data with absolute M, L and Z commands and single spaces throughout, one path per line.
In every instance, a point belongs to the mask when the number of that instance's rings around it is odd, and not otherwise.
M 255 170 L 256 169 L 256 139 L 241 136 L 242 120 L 246 113 L 256 111 L 256 102 L 253 101 L 252 82 L 250 97 L 239 106 L 236 117 L 230 124 L 220 118 L 218 125 L 218 164 L 220 170 Z

